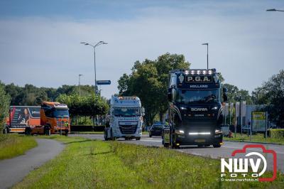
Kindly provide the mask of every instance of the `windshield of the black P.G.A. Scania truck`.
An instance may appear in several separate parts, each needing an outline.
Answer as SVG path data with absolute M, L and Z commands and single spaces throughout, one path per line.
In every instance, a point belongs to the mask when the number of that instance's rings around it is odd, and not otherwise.
M 185 104 L 210 104 L 219 102 L 219 89 L 216 90 L 178 90 L 176 102 Z

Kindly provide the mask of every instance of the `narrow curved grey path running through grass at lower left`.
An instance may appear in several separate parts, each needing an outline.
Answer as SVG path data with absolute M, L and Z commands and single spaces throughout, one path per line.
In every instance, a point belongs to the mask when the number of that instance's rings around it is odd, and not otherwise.
M 22 156 L 0 161 L 0 188 L 10 188 L 20 182 L 33 169 L 55 158 L 64 148 L 63 144 L 51 139 L 36 139 L 38 146 Z

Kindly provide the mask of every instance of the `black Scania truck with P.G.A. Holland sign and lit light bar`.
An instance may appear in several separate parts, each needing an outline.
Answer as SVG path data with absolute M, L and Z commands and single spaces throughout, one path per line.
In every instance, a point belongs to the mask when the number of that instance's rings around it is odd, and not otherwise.
M 222 93 L 223 102 L 226 102 L 227 96 L 218 75 L 215 69 L 170 71 L 169 127 L 163 131 L 165 147 L 221 147 L 223 115 L 220 96 Z

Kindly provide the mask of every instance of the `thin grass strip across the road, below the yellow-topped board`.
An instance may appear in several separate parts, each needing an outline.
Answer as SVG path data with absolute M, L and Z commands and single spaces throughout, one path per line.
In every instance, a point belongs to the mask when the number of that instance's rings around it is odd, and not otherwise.
M 254 134 L 252 136 L 248 136 L 247 134 L 233 134 L 233 138 L 224 137 L 225 141 L 253 141 L 253 142 L 266 142 L 266 143 L 275 143 L 275 144 L 284 144 L 284 138 L 283 139 L 273 139 L 268 137 L 267 139 L 264 137 L 263 134 Z

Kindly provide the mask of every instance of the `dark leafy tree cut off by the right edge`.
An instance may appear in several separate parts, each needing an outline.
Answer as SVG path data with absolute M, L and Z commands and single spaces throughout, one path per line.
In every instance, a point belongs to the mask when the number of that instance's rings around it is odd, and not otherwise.
M 273 75 L 253 92 L 255 104 L 268 104 L 269 119 L 284 127 L 284 70 Z

